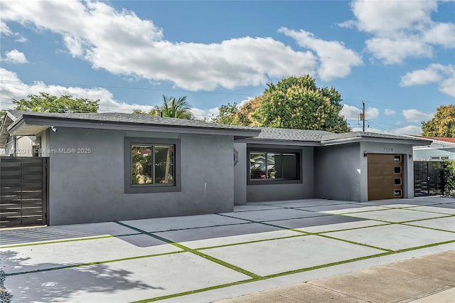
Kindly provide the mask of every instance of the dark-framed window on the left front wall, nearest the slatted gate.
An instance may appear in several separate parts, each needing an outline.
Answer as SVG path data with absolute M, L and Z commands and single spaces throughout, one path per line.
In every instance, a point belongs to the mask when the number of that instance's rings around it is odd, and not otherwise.
M 173 139 L 124 139 L 125 193 L 180 191 L 180 142 Z

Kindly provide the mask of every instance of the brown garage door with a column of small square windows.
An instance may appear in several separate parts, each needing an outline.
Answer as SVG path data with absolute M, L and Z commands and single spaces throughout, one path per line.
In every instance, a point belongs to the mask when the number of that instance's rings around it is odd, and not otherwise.
M 368 200 L 403 198 L 403 155 L 368 154 Z

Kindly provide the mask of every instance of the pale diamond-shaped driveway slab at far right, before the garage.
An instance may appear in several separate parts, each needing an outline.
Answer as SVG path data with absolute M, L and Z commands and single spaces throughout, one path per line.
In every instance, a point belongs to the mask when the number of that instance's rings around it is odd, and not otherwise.
M 384 211 L 370 211 L 365 213 L 348 213 L 344 216 L 353 216 L 370 220 L 383 220 L 387 222 L 399 223 L 411 220 L 422 220 L 428 218 L 439 218 L 448 216 L 442 213 L 426 213 L 423 211 L 411 211 L 409 209 L 385 209 Z

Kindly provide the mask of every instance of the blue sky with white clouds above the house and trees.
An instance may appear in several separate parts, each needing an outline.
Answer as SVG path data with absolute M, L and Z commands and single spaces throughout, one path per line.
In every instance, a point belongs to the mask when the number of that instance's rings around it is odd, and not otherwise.
M 39 92 L 193 115 L 312 75 L 353 130 L 420 134 L 455 103 L 455 1 L 0 0 L 0 109 Z

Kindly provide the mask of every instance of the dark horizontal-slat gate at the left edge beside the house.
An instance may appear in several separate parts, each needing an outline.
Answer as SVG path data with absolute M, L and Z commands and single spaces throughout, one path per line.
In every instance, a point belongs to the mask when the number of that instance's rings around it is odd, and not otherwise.
M 0 227 L 47 224 L 48 158 L 0 157 Z

